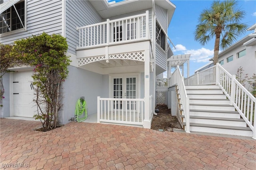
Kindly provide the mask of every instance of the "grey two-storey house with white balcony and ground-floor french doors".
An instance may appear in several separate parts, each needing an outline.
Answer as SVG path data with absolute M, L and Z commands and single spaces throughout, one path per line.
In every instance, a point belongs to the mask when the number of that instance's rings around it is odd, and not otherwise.
M 156 76 L 166 71 L 167 58 L 172 55 L 167 34 L 174 4 L 169 0 L 127 0 L 116 4 L 106 0 L 4 2 L 1 43 L 10 44 L 43 32 L 67 39 L 67 55 L 72 63 L 62 86 L 60 124 L 70 122 L 76 101 L 84 96 L 88 115 L 98 113 L 98 121 L 150 128 Z M 33 68 L 11 70 L 15 72 L 3 77 L 1 117 L 33 117 Z

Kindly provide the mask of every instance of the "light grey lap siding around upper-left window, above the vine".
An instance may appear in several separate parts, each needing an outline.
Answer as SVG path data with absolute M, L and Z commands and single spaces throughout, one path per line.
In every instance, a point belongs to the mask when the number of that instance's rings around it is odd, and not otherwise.
M 26 1 L 25 1 L 26 3 Z M 62 33 L 62 1 L 61 0 L 27 0 L 27 31 L 1 36 L 1 43 L 13 43 L 16 39 L 38 35 Z

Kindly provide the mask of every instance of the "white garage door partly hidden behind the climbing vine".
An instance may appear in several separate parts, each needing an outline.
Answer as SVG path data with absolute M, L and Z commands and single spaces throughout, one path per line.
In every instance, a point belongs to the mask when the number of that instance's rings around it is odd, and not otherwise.
M 13 114 L 14 116 L 33 117 L 36 105 L 33 102 L 34 90 L 31 85 L 32 71 L 13 73 Z

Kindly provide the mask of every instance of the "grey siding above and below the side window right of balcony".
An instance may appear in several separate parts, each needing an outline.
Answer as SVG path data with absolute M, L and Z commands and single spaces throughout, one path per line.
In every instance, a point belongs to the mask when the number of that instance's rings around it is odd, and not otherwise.
M 167 33 L 167 10 L 156 5 L 156 18 L 162 29 Z M 166 70 L 166 60 L 166 52 L 156 43 L 156 64 Z

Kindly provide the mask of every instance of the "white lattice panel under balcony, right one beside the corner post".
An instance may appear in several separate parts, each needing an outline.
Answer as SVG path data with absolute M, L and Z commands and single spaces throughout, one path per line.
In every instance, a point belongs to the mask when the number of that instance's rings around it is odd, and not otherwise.
M 132 52 L 132 53 L 122 53 L 122 54 L 114 54 L 109 55 L 109 59 L 128 59 L 128 60 L 137 60 L 144 61 L 144 52 Z

